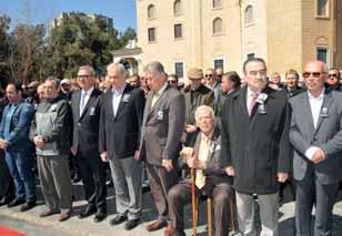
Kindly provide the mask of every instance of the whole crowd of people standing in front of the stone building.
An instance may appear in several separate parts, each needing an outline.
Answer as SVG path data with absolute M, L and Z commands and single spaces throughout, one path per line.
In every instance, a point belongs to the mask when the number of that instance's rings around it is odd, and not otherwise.
M 0 206 L 36 207 L 37 166 L 46 204 L 40 217 L 69 219 L 72 179 L 80 178 L 87 206 L 78 217 L 102 222 L 109 170 L 117 207 L 110 225 L 130 230 L 141 223 L 148 179 L 158 212 L 149 232 L 167 227 L 165 236 L 185 235 L 184 206 L 207 196 L 214 235 L 232 228 L 233 199 L 242 235 L 273 236 L 290 185 L 296 235 L 332 235 L 342 179 L 340 71 L 311 61 L 302 76 L 286 71 L 282 83 L 254 58 L 244 62 L 242 78 L 191 68 L 188 79 L 181 84 L 153 61 L 140 75 L 111 63 L 102 80 L 84 65 L 73 80 L 9 82 L 0 101 Z

